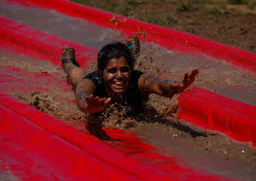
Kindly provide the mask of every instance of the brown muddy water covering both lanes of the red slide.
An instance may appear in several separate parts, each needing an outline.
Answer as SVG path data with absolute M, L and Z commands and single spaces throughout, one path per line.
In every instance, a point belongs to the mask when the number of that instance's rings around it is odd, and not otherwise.
M 90 48 L 100 49 L 108 42 L 124 42 L 125 39 L 119 32 L 103 29 L 93 23 L 73 19 L 55 11 L 23 8 L 15 4 L 5 4 L 2 0 L 0 3 L 0 14 L 5 17 Z M 79 123 L 85 122 L 86 117 L 71 103 L 73 93 L 70 88 L 65 87 L 66 76 L 60 68 L 26 56 L 13 57 L 3 51 L 0 54 L 1 77 L 8 74 L 24 81 L 20 84 L 9 80 L 5 84 L 1 82 L 1 90 L 73 127 L 84 130 Z M 183 72 L 195 66 L 201 70 L 195 85 L 255 105 L 255 75 L 224 61 L 204 55 L 172 52 L 147 42 L 142 42 L 142 53 L 137 59 L 137 69 L 174 80 L 182 80 Z M 12 67 L 22 70 L 22 74 L 13 71 Z M 91 67 L 91 70 L 94 68 Z M 35 77 L 38 77 L 38 74 L 49 76 L 37 79 Z M 49 84 L 49 79 L 58 83 Z M 32 80 L 34 85 L 40 88 L 24 87 Z M 175 99 L 151 96 L 145 112 L 128 120 L 132 122 L 129 124 L 130 129 L 143 141 L 158 148 L 161 154 L 179 156 L 193 167 L 233 178 L 256 178 L 256 150 L 250 144 L 238 144 L 219 133 L 177 122 L 175 111 L 172 111 L 170 106 L 175 104 Z M 123 124 L 107 124 L 110 127 L 125 127 Z

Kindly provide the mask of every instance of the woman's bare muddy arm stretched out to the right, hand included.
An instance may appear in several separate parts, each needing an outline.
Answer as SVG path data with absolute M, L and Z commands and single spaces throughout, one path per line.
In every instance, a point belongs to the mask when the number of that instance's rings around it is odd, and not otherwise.
M 138 80 L 138 88 L 141 93 L 148 95 L 150 93 L 157 93 L 162 96 L 172 97 L 175 93 L 181 93 L 186 88 L 195 82 L 195 76 L 199 73 L 198 68 L 188 74 L 185 73 L 183 82 L 173 82 L 170 80 L 162 80 L 156 76 L 143 74 Z

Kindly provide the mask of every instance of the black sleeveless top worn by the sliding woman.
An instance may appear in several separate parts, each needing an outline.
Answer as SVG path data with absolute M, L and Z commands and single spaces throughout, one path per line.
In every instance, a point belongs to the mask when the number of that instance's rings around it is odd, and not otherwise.
M 138 88 L 138 79 L 143 75 L 141 71 L 131 71 L 131 82 L 125 91 L 125 95 L 122 98 L 122 105 L 128 105 L 131 107 L 133 113 L 143 109 L 143 103 L 148 100 L 147 95 L 143 95 Z M 83 79 L 89 79 L 94 82 L 96 86 L 96 94 L 94 96 L 99 96 L 100 98 L 108 97 L 108 93 L 104 87 L 104 80 L 98 71 L 93 71 Z

